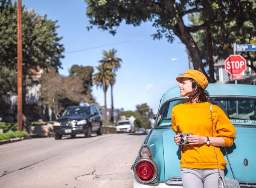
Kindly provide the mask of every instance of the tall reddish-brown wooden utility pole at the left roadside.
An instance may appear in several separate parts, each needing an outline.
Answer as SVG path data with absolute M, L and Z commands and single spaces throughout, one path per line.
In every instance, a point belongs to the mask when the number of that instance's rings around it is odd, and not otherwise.
M 22 20 L 21 0 L 17 0 L 17 121 L 18 130 L 23 131 L 22 126 Z

